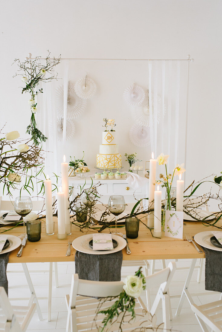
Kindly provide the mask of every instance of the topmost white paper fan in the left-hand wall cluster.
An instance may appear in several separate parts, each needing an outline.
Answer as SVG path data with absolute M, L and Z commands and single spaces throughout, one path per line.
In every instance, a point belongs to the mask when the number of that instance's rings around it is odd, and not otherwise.
M 87 76 L 76 81 L 75 92 L 82 99 L 93 97 L 96 92 L 96 83 Z

